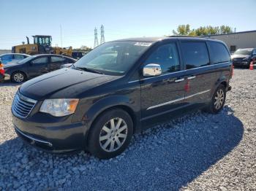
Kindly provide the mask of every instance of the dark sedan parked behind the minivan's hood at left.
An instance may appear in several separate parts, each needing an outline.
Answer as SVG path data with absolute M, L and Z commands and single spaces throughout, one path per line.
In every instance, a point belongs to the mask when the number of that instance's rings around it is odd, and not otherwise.
M 11 79 L 12 82 L 24 82 L 26 79 L 60 69 L 61 65 L 75 63 L 75 61 L 64 55 L 31 55 L 17 63 L 5 65 L 5 79 Z

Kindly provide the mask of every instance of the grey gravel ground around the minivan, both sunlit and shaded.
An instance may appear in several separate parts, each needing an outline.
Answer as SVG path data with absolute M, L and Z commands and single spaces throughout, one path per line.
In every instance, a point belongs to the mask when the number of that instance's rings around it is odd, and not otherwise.
M 111 160 L 52 155 L 12 127 L 17 85 L 0 85 L 0 190 L 256 190 L 256 70 L 235 69 L 225 108 L 193 112 L 133 137 Z

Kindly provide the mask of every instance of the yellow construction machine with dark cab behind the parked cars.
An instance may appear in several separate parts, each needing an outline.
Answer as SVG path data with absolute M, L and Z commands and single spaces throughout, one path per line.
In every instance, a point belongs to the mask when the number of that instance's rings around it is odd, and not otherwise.
M 24 53 L 28 55 L 37 54 L 57 54 L 72 56 L 72 47 L 51 47 L 51 36 L 48 35 L 35 35 L 33 36 L 34 43 L 29 43 L 29 37 L 26 36 L 27 44 L 12 47 L 12 53 Z

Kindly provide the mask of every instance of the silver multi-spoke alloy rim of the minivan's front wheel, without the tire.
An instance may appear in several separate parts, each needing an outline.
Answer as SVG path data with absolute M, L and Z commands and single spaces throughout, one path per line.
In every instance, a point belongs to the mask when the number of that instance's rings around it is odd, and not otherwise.
M 127 139 L 127 123 L 119 118 L 113 118 L 105 123 L 99 133 L 99 145 L 106 152 L 114 152 Z

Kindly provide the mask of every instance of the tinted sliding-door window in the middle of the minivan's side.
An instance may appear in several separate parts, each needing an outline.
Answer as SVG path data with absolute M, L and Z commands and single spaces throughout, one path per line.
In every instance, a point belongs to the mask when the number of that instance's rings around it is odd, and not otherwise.
M 210 63 L 205 42 L 181 42 L 181 50 L 186 69 L 207 66 Z

